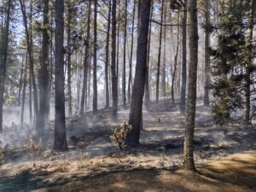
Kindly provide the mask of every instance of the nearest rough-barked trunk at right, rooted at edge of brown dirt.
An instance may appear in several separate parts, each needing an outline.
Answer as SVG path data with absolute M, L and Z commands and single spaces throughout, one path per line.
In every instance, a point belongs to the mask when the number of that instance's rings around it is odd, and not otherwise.
M 196 77 L 198 62 L 198 26 L 197 26 L 197 3 L 196 0 L 189 2 L 190 12 L 190 35 L 189 35 L 189 89 L 188 107 L 186 117 L 186 130 L 184 137 L 184 169 L 195 171 L 194 162 L 194 130 L 195 130 L 195 104 L 196 104 Z

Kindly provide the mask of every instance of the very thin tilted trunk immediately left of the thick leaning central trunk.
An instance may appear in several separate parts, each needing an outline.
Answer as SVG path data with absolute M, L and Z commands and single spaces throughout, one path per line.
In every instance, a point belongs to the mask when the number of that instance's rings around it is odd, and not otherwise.
M 133 35 L 134 35 L 134 20 L 135 20 L 136 3 L 134 2 L 132 11 L 132 23 L 131 23 L 131 57 L 130 57 L 130 69 L 128 80 L 128 102 L 131 103 L 131 73 L 132 73 L 132 55 L 133 55 Z

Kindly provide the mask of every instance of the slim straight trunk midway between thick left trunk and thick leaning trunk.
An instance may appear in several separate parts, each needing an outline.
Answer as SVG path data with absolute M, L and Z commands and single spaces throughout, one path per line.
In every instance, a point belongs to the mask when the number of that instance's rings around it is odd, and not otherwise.
M 93 44 L 93 113 L 97 113 L 97 4 L 94 2 L 94 44 Z

